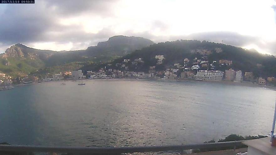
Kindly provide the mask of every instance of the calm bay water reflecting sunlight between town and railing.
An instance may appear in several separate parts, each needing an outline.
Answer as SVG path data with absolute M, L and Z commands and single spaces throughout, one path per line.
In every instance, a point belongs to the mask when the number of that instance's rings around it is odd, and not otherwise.
M 274 90 L 199 81 L 62 82 L 0 91 L 0 142 L 178 145 L 271 130 Z

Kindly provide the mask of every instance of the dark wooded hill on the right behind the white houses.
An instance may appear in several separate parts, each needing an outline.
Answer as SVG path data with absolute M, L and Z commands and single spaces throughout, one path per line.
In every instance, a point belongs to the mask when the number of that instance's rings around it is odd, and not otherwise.
M 162 65 L 157 65 L 156 55 L 164 55 L 165 59 Z M 193 65 L 195 58 L 201 59 L 207 57 L 209 63 L 219 61 L 221 59 L 232 60 L 232 65 L 216 66 L 216 70 L 225 71 L 233 68 L 234 70 L 242 70 L 243 72 L 253 72 L 255 76 L 276 76 L 276 59 L 273 55 L 261 54 L 256 50 L 248 50 L 240 47 L 235 47 L 226 44 L 211 43 L 198 40 L 177 40 L 172 42 L 153 44 L 141 50 L 136 50 L 131 54 L 127 54 L 122 58 L 114 61 L 103 63 L 100 65 L 87 65 L 82 67 L 82 70 L 98 70 L 99 68 L 112 68 L 126 71 L 125 67 L 119 64 L 128 66 L 128 71 L 145 71 L 149 70 L 150 66 L 156 66 L 155 70 L 164 71 L 168 68 L 173 68 L 175 63 L 183 65 L 183 59 L 188 58 L 190 62 L 188 67 Z M 135 62 L 135 59 L 142 58 L 143 62 Z M 123 62 L 124 59 L 130 59 L 130 62 Z M 117 65 L 116 65 L 117 64 Z M 208 69 L 207 67 L 204 69 Z M 210 69 L 210 66 L 209 66 Z

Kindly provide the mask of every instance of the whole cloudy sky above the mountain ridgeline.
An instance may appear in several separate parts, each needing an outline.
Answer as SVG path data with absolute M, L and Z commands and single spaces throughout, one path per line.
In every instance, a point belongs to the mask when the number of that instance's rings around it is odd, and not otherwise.
M 206 40 L 276 55 L 274 0 L 35 0 L 0 4 L 0 53 L 77 50 L 114 35 Z

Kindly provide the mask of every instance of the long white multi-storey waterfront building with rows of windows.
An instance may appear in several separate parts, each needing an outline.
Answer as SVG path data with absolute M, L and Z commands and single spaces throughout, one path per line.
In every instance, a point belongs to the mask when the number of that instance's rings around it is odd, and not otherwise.
M 224 72 L 219 70 L 199 70 L 194 75 L 195 80 L 222 80 Z

